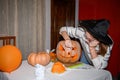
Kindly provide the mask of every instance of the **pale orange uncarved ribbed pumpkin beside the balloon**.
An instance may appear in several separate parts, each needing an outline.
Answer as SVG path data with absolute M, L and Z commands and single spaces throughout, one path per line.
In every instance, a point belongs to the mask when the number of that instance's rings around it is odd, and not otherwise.
M 28 63 L 32 66 L 40 64 L 46 66 L 50 62 L 50 56 L 46 52 L 30 53 L 28 56 Z

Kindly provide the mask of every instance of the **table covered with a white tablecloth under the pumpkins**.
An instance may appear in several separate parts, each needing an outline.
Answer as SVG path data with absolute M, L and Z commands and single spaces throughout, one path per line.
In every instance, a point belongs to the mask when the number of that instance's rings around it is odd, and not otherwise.
M 51 73 L 51 66 L 52 63 L 46 67 L 46 78 L 44 80 L 112 80 L 111 73 L 109 71 L 97 70 L 85 64 L 79 69 L 67 70 L 60 75 Z M 8 80 L 35 80 L 34 71 L 35 68 L 29 65 L 25 60 L 17 70 L 10 74 L 4 74 Z

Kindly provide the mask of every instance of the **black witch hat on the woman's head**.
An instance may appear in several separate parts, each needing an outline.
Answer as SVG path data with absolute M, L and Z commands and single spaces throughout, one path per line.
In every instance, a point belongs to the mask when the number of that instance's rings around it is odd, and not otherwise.
M 110 45 L 112 39 L 107 34 L 110 22 L 105 19 L 101 20 L 81 20 L 80 26 L 84 27 L 98 41 Z

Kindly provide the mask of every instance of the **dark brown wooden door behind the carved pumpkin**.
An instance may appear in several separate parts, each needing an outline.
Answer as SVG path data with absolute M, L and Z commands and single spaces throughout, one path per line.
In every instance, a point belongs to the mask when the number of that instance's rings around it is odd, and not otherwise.
M 51 49 L 56 49 L 62 39 L 62 26 L 75 25 L 75 0 L 51 0 Z

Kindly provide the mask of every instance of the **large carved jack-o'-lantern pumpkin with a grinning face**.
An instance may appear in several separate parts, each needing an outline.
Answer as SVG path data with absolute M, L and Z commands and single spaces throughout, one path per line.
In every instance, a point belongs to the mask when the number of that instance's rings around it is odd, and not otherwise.
M 71 41 L 74 47 L 69 53 L 66 53 L 62 46 L 65 43 L 65 41 L 60 41 L 57 45 L 56 49 L 57 58 L 63 63 L 75 63 L 79 60 L 81 56 L 82 49 L 80 44 L 77 41 L 73 40 Z M 72 53 L 74 53 L 74 55 Z

